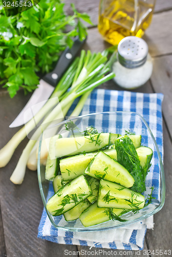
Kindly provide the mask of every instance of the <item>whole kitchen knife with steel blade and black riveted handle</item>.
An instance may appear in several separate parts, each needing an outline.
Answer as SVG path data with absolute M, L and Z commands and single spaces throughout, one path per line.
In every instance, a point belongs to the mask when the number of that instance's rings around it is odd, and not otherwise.
M 69 65 L 74 60 L 77 52 L 83 45 L 85 40 L 80 41 L 78 37 L 74 39 L 72 48 L 67 47 L 62 53 L 55 68 L 40 79 L 37 88 L 34 90 L 31 98 L 9 125 L 9 127 L 17 127 L 25 124 L 39 111 L 39 109 L 47 102 L 51 94 L 53 93 L 54 87 L 57 85 L 63 73 L 67 70 Z M 39 103 L 39 104 L 38 104 Z M 29 110 L 30 109 L 30 110 Z M 25 114 L 25 115 L 24 115 Z

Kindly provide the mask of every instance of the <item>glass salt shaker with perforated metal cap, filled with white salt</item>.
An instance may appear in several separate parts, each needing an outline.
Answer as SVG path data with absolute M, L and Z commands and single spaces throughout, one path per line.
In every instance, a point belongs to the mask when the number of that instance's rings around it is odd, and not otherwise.
M 136 36 L 122 39 L 112 69 L 115 83 L 123 88 L 134 89 L 146 83 L 153 71 L 146 42 Z

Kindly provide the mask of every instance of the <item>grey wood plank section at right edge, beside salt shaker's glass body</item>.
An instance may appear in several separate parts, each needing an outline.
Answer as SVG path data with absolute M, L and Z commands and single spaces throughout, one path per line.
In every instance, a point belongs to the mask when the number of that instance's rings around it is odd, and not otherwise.
M 151 77 L 153 88 L 156 92 L 164 94 L 162 103 L 163 116 L 172 138 L 172 56 L 164 56 L 154 59 L 154 69 Z

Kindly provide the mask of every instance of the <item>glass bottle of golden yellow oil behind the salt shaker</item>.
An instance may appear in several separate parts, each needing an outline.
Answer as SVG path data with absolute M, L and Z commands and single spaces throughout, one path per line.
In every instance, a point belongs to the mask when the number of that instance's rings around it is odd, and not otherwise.
M 125 36 L 141 38 L 152 21 L 155 0 L 100 0 L 98 29 L 116 45 Z

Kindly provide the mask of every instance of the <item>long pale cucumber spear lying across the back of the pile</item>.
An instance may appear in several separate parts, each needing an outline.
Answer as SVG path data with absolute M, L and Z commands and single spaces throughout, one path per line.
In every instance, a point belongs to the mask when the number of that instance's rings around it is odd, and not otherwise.
M 109 144 L 115 142 L 117 134 L 99 133 L 83 137 L 59 138 L 55 143 L 55 156 L 70 156 L 79 153 L 94 152 Z

